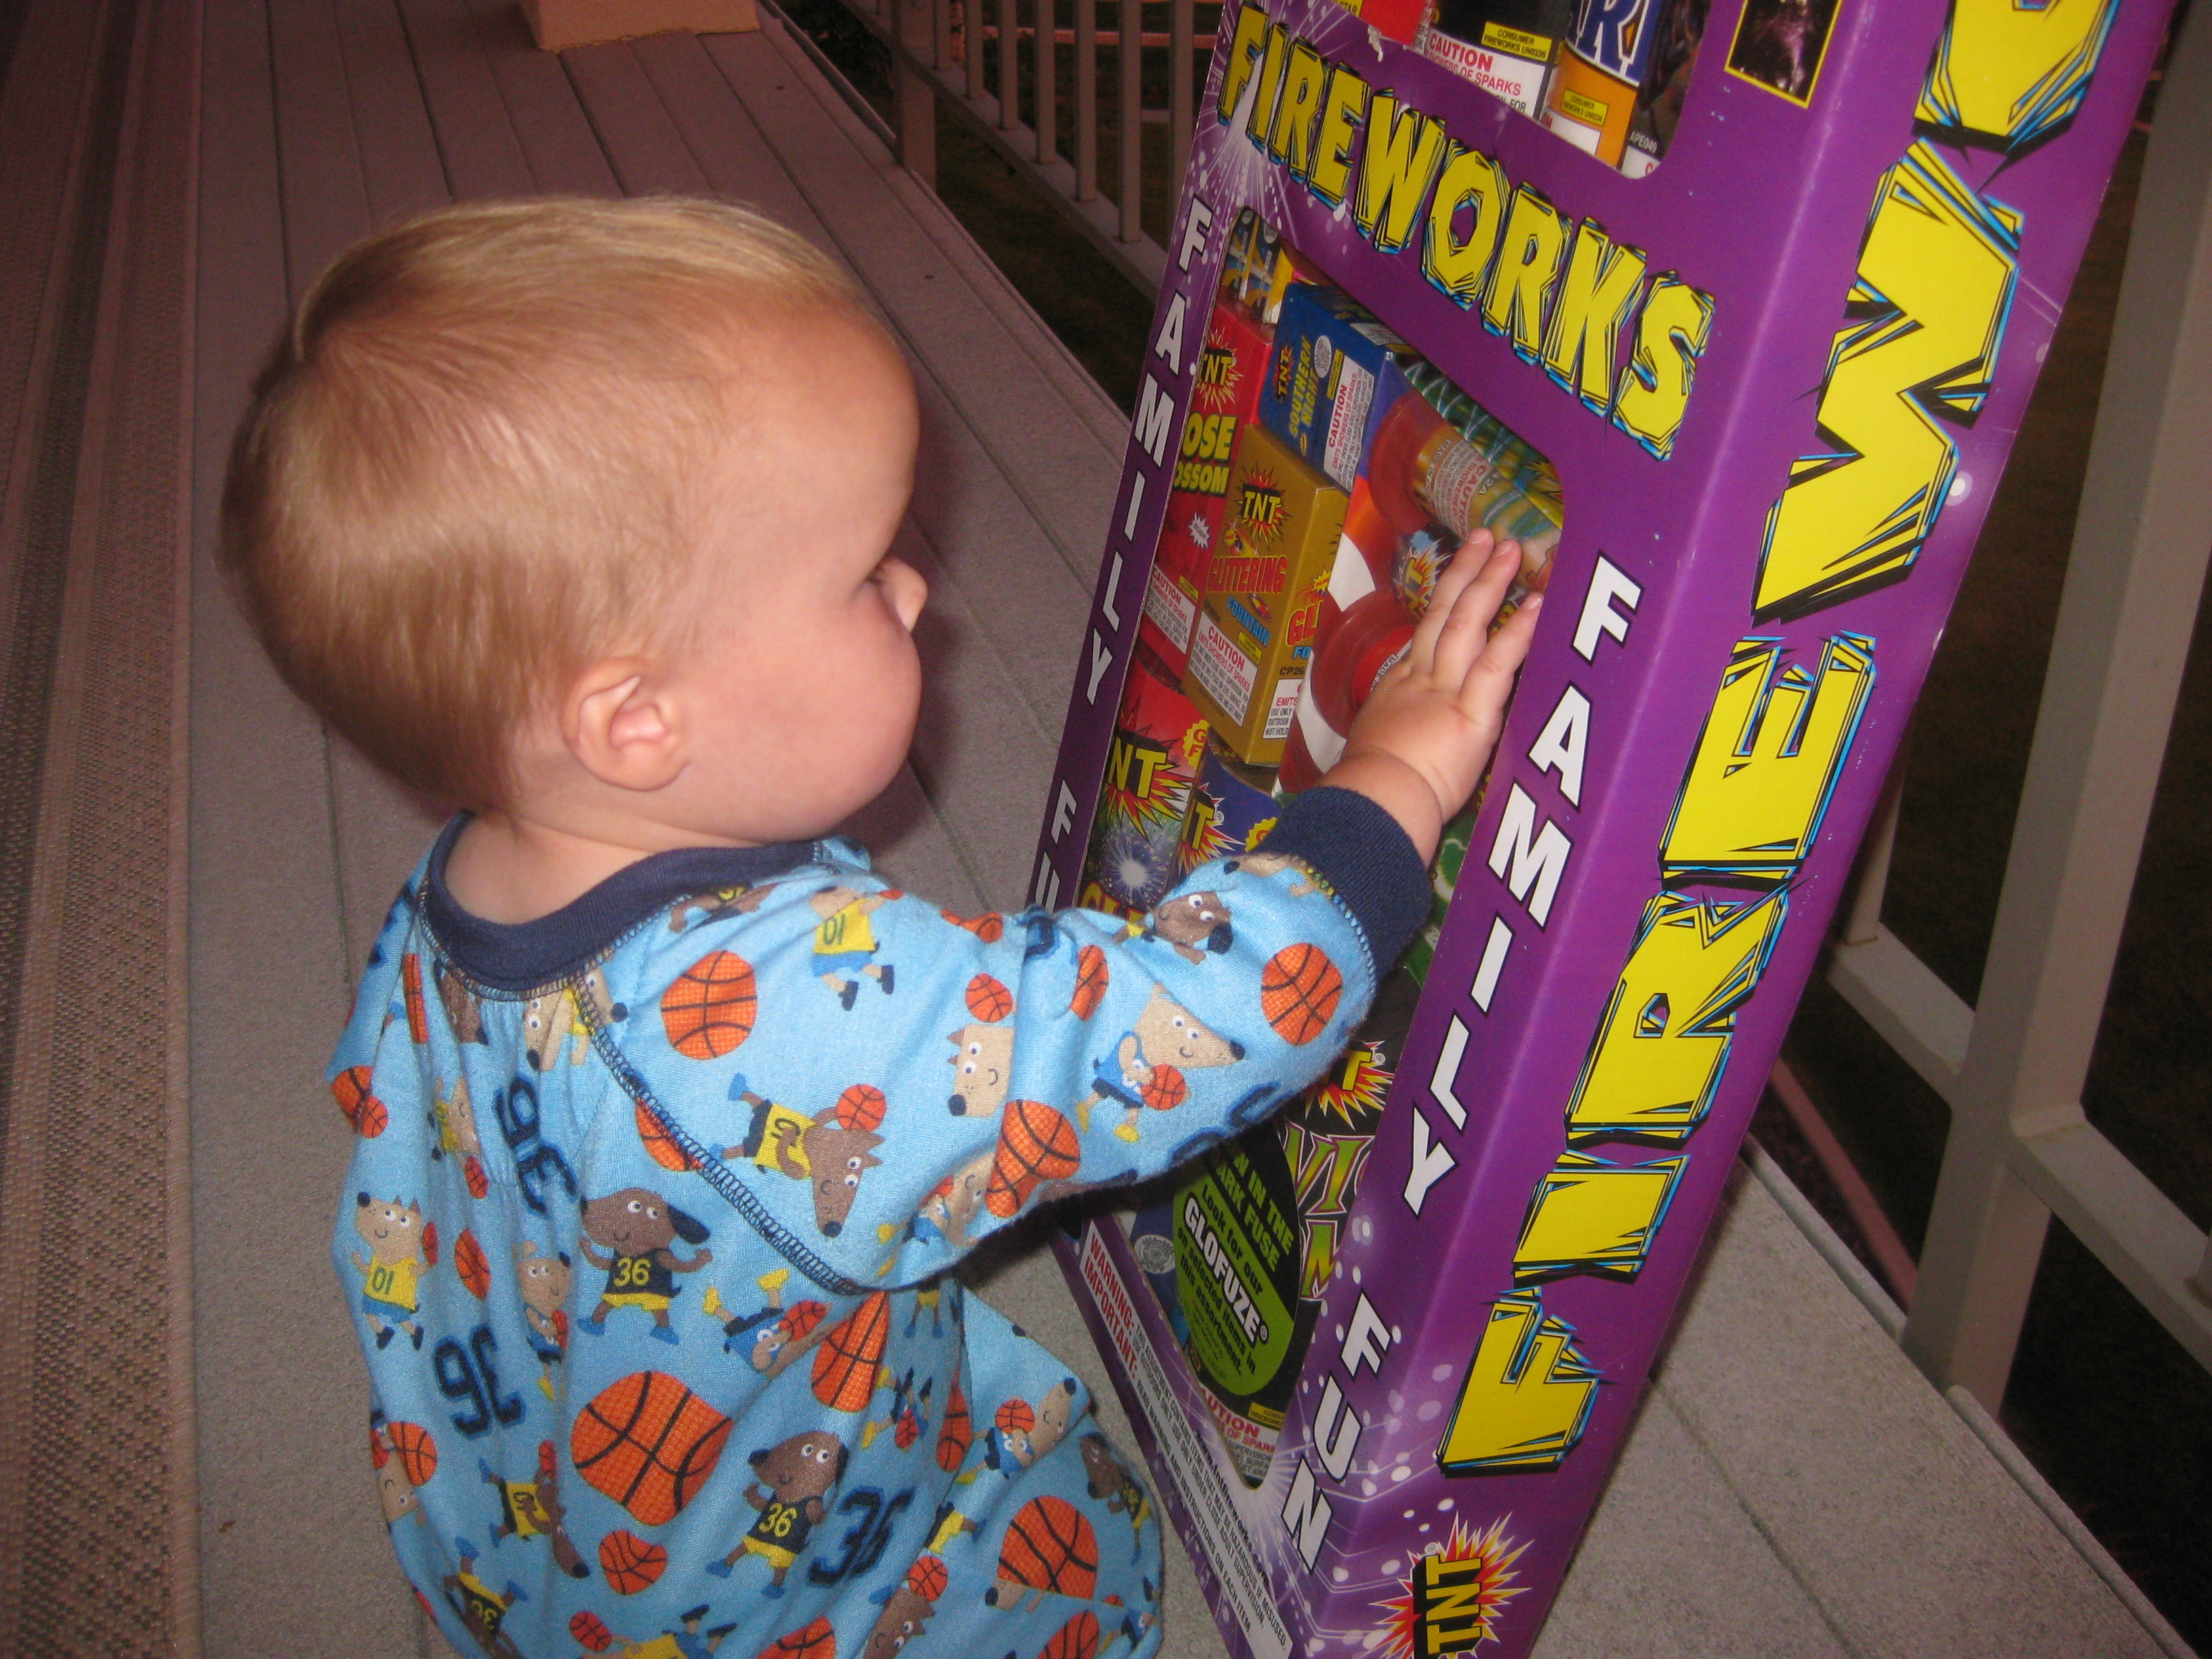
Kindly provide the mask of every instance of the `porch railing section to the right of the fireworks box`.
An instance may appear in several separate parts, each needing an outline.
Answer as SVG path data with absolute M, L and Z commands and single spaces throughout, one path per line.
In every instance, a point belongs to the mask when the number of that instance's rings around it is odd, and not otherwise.
M 1951 1104 L 1902 1329 L 1997 1409 L 2057 1214 L 2212 1369 L 2212 1248 L 2081 1110 L 2212 551 L 2212 18 L 2192 7 L 2143 161 L 2042 712 L 1978 1006 L 1882 925 L 1896 790 L 1829 982 Z M 1922 732 L 1922 739 L 1931 737 Z

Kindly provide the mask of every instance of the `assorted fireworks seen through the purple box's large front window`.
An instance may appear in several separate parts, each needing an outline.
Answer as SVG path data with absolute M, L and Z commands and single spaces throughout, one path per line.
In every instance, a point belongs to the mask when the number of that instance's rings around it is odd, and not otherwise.
M 1500 535 L 1531 538 L 1520 597 L 1542 586 L 1562 518 L 1548 465 L 1495 416 L 1321 281 L 1267 226 L 1241 223 L 1237 241 L 1274 254 L 1232 263 L 1221 310 L 1230 310 L 1239 290 L 1261 292 L 1245 283 L 1256 263 L 1296 270 L 1301 279 L 1272 290 L 1279 301 L 1267 363 L 1272 392 L 1259 422 L 1237 440 L 1221 553 L 1208 564 L 1201 630 L 1212 626 L 1223 644 L 1201 639 L 1183 670 L 1203 730 L 1183 745 L 1199 763 L 1186 787 L 1179 872 L 1265 849 L 1281 799 L 1312 787 L 1336 761 L 1345 730 L 1405 655 L 1436 577 L 1469 531 L 1493 524 Z M 1199 392 L 1192 396 L 1197 403 Z M 1292 445 L 1327 462 L 1332 476 L 1307 467 Z M 1340 482 L 1349 482 L 1349 495 Z M 1301 504 L 1307 500 L 1327 507 L 1316 515 Z M 1312 518 L 1310 533 L 1296 533 L 1298 513 Z M 1172 531 L 1170 502 L 1164 549 Z M 1305 551 L 1274 553 L 1279 564 L 1256 575 L 1243 564 L 1292 542 Z M 1294 708 L 1285 739 L 1252 745 L 1237 723 L 1234 699 L 1208 684 L 1208 653 L 1230 648 L 1250 659 L 1248 641 L 1263 646 L 1272 635 L 1281 635 L 1287 661 L 1305 672 L 1276 706 Z M 1141 909 L 1139 894 L 1164 891 L 1157 852 L 1135 852 L 1139 841 L 1128 832 L 1128 803 L 1146 794 L 1144 779 L 1164 776 L 1135 759 L 1135 734 L 1150 730 L 1146 741 L 1172 748 L 1166 732 L 1183 719 L 1166 701 L 1166 686 L 1155 684 L 1159 666 L 1141 657 L 1130 672 L 1084 880 L 1086 898 L 1110 894 L 1119 907 Z M 1276 666 L 1279 657 L 1254 661 L 1252 681 Z M 1243 684 L 1237 675 L 1234 692 Z M 1223 701 L 1232 708 L 1221 708 Z M 1150 799 L 1166 796 L 1155 787 Z M 1219 1161 L 1190 1170 L 1168 1203 L 1135 1219 L 1137 1259 L 1203 1389 L 1212 1433 L 1248 1489 L 1265 1480 L 1276 1451 L 1312 1343 L 1318 1292 L 1358 1194 L 1471 823 L 1467 812 L 1447 825 L 1431 867 L 1433 914 L 1385 975 L 1352 1048 L 1283 1117 L 1250 1130 Z M 1225 945 L 1228 933 L 1214 940 Z M 1199 958 L 1199 947 L 1181 949 Z

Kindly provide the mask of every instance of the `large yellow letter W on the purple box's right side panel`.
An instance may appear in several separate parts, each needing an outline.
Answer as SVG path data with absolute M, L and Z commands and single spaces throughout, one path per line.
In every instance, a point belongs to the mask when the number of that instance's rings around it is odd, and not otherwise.
M 1927 144 L 1882 177 L 1816 416 L 1767 513 L 1759 617 L 1801 617 L 1902 580 L 1936 529 L 1958 449 L 1938 425 L 1982 407 L 2020 274 L 2020 215 Z

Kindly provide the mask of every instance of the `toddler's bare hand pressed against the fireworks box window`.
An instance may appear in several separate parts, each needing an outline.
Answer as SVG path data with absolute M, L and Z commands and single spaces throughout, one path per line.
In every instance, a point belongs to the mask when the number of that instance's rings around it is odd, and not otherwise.
M 1489 531 L 1475 531 L 1460 544 L 1405 661 L 1376 686 L 1352 721 L 1343 759 L 1321 779 L 1389 812 L 1422 863 L 1436 856 L 1444 821 L 1475 792 L 1498 748 L 1513 675 L 1528 655 L 1542 595 L 1528 595 L 1489 635 L 1517 571 L 1520 542 L 1493 546 Z

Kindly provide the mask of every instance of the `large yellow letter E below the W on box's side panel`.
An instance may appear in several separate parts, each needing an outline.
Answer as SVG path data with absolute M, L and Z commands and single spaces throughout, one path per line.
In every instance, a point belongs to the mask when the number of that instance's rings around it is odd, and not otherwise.
M 1865 635 L 1823 641 L 1816 672 L 1783 668 L 1772 639 L 1739 639 L 1666 827 L 1666 878 L 1787 880 L 1812 854 L 1871 695 Z

